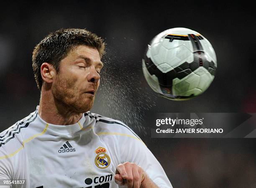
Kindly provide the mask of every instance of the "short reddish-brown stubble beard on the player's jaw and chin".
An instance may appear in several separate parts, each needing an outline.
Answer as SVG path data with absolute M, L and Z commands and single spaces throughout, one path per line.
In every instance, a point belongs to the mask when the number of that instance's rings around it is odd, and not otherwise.
M 75 80 L 57 76 L 52 93 L 56 106 L 62 111 L 85 113 L 92 109 L 94 96 L 84 94 L 75 84 Z

